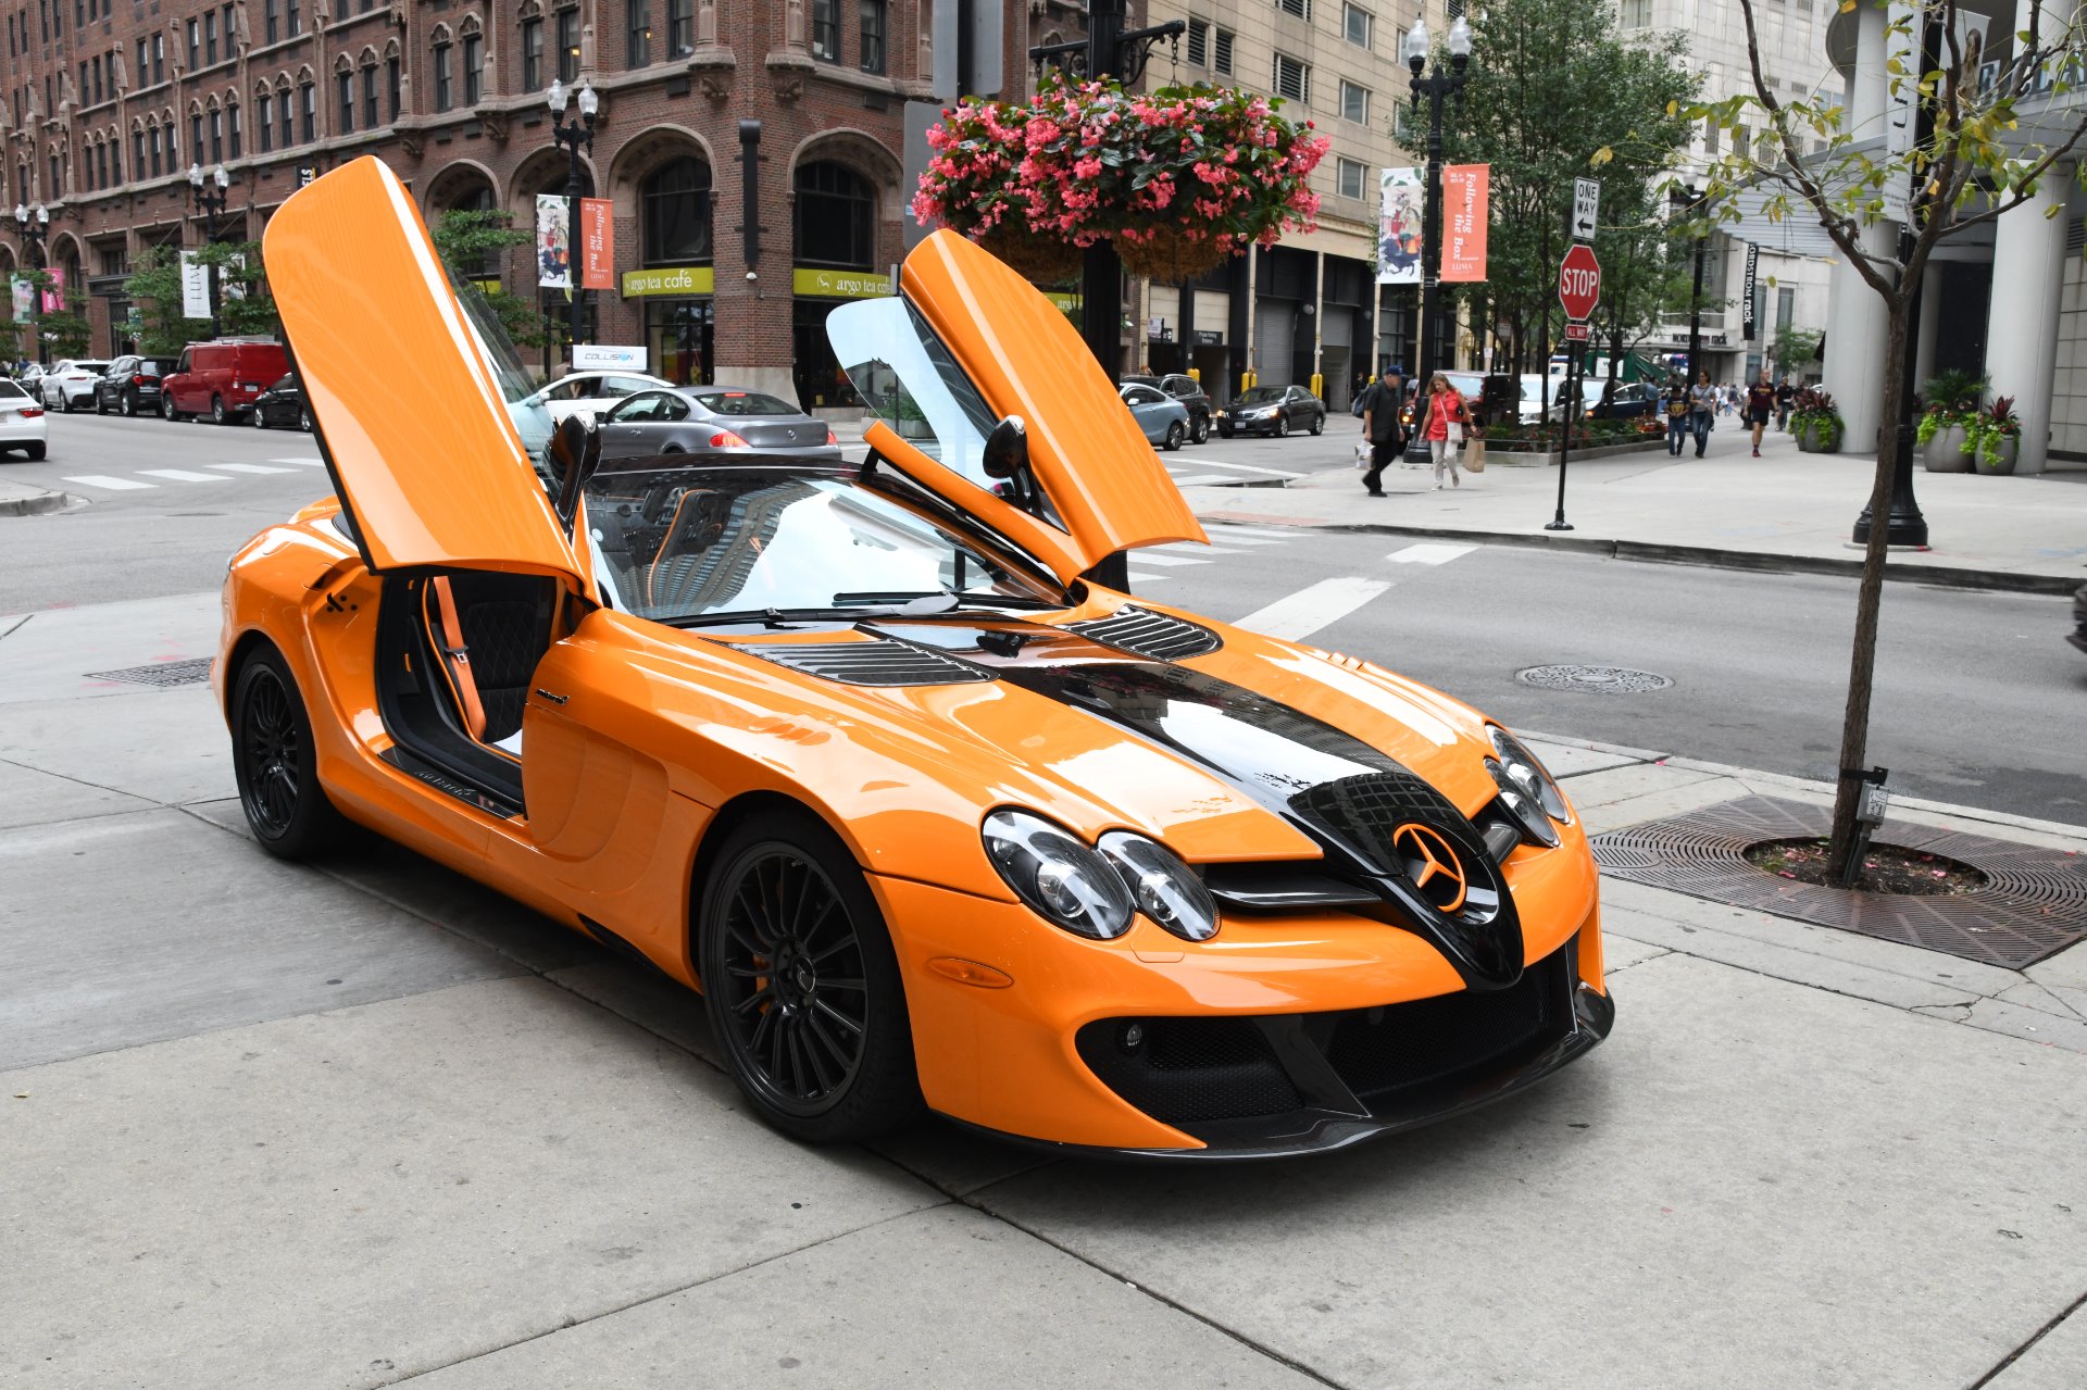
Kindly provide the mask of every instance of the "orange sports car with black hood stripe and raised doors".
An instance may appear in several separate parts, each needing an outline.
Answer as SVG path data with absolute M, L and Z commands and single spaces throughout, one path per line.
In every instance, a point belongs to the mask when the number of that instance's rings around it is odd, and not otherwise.
M 829 334 L 862 465 L 601 461 L 361 159 L 267 275 L 336 499 L 225 580 L 255 837 L 397 839 L 699 989 L 776 1129 L 1342 1148 L 1607 1035 L 1594 860 L 1498 724 L 1089 572 L 1200 541 L 1041 294 L 937 232 Z M 371 369 L 397 363 L 399 369 Z

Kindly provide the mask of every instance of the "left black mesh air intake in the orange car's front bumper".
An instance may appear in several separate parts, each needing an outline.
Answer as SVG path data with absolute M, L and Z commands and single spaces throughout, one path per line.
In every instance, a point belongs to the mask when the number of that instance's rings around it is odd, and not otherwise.
M 1144 1031 L 1127 1046 L 1131 1025 Z M 1075 1037 L 1108 1089 L 1167 1125 L 1298 1108 L 1290 1077 L 1250 1018 L 1102 1018 Z

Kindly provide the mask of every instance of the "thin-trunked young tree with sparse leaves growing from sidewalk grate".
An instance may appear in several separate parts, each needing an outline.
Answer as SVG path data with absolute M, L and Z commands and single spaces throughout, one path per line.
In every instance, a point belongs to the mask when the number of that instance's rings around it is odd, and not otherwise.
M 1670 106 L 1726 136 L 1726 152 L 1707 169 L 1699 221 L 1738 221 L 1743 205 L 1770 219 L 1816 219 L 1885 305 L 1885 353 L 1876 363 L 1882 428 L 1855 591 L 1828 849 L 1828 870 L 1837 877 L 1845 877 L 1857 841 L 1862 785 L 1851 772 L 1864 768 L 1870 751 L 1893 465 L 1901 453 L 1910 459 L 1914 447 L 1905 390 L 1914 294 L 1937 244 L 1997 221 L 2035 198 L 2045 182 L 2064 177 L 2060 165 L 2087 136 L 2087 109 L 2066 100 L 2087 52 L 2077 19 L 2024 4 L 2026 27 L 2012 44 L 1995 42 L 2004 61 L 1987 63 L 1970 23 L 1983 13 L 1972 15 L 1960 0 L 1841 0 L 1841 13 L 1860 2 L 1876 4 L 1885 19 L 1887 102 L 1878 129 L 1857 129 L 1839 94 L 1778 96 L 1770 88 L 1761 73 L 1757 0 L 1741 0 L 1751 92 Z M 2056 213 L 2058 207 L 2049 211 Z

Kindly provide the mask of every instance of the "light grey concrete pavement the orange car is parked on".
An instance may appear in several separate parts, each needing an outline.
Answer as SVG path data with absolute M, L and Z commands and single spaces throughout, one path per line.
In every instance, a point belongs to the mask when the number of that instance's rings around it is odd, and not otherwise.
M 1611 883 L 1615 1035 L 1450 1125 L 1248 1171 L 808 1150 L 680 991 L 399 849 L 265 860 L 209 695 L 83 676 L 209 655 L 211 595 L 0 630 L 10 1384 L 2087 1384 L 2083 948 Z M 1540 739 L 1594 831 L 1824 795 Z

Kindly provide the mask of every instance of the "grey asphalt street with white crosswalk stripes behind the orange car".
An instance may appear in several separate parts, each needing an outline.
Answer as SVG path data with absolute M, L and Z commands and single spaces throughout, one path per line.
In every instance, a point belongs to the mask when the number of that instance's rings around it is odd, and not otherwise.
M 1348 426 L 1334 420 L 1317 440 L 1210 440 L 1165 461 L 1183 480 L 1279 480 L 1344 468 Z M 328 490 L 305 434 L 94 415 L 52 417 L 50 457 L 10 459 L 0 476 L 90 501 L 0 518 L 0 614 L 215 589 L 234 547 Z M 1853 580 L 1340 532 L 1213 534 L 1215 551 L 1142 553 L 1133 586 L 1225 620 L 1286 603 L 1273 620 L 1286 634 L 1521 728 L 1832 776 Z M 1887 584 L 1870 762 L 1908 795 L 2087 820 L 2087 660 L 2064 645 L 2066 626 L 2064 599 Z M 1588 695 L 1517 680 L 1544 664 L 1624 666 L 1672 685 Z

